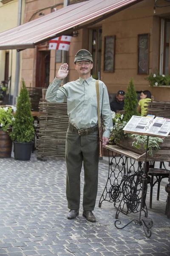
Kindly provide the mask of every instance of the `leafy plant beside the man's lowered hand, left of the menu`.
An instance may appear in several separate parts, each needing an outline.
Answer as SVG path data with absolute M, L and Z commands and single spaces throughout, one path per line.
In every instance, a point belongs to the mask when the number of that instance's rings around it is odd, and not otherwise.
M 110 134 L 110 139 L 108 142 L 110 145 L 117 144 L 119 140 L 125 137 L 130 137 L 130 134 L 127 134 L 123 131 L 123 128 L 126 124 L 127 122 L 125 121 L 121 121 L 120 119 L 117 120 Z

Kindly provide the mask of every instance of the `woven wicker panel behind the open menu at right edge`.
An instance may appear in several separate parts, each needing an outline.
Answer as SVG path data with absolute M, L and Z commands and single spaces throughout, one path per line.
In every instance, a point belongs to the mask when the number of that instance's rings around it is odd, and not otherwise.
M 151 101 L 148 103 L 147 115 L 170 118 L 170 102 Z

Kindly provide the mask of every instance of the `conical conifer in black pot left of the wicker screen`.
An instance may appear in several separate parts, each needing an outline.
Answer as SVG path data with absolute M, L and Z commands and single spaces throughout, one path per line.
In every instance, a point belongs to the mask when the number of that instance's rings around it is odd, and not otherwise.
M 23 79 L 22 85 L 20 96 L 17 98 L 17 111 L 14 115 L 15 121 L 10 136 L 14 141 L 14 158 L 16 160 L 30 160 L 35 134 L 34 118 L 31 114 L 28 90 Z

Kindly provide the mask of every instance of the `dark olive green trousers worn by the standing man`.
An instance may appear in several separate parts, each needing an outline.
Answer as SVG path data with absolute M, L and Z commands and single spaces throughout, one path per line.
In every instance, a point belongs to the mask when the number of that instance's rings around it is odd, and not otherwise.
M 68 209 L 79 209 L 80 173 L 84 167 L 83 210 L 94 210 L 98 187 L 99 132 L 81 135 L 69 125 L 66 135 L 65 160 L 67 166 L 66 196 Z

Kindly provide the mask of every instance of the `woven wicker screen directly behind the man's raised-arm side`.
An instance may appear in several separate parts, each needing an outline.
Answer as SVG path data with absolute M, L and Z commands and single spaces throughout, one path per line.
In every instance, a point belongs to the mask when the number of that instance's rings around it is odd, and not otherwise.
M 68 129 L 66 103 L 39 102 L 37 128 L 37 157 L 65 157 L 65 138 Z

